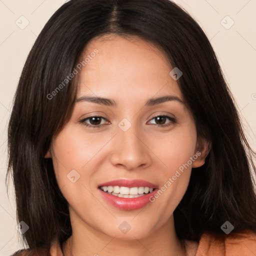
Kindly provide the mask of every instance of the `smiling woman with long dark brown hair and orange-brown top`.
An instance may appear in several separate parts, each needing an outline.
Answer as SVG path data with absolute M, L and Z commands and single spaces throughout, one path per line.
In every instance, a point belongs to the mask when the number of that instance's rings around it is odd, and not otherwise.
M 208 39 L 171 1 L 62 5 L 8 145 L 16 255 L 256 253 L 255 153 Z

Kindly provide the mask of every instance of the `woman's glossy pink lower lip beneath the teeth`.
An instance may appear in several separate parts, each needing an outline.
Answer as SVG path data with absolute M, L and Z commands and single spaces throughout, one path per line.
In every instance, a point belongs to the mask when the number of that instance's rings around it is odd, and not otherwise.
M 103 196 L 103 198 L 114 207 L 123 209 L 123 210 L 135 210 L 135 209 L 142 208 L 147 203 L 149 203 L 150 202 L 149 197 L 154 196 L 154 194 L 159 189 L 154 189 L 151 193 L 148 193 L 139 197 L 135 197 L 135 198 L 118 197 L 118 196 L 106 193 L 102 191 L 100 188 L 98 188 L 98 190 Z

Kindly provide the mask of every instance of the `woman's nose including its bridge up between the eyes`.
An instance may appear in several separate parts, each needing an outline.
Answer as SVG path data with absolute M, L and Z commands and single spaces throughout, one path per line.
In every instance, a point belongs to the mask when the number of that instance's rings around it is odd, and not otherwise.
M 122 165 L 127 169 L 149 164 L 150 154 L 135 123 L 132 124 L 125 118 L 121 120 L 115 139 L 112 164 Z

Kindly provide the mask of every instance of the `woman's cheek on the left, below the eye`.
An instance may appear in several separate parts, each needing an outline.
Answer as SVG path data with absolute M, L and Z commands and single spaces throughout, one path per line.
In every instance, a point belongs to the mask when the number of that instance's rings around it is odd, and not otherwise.
M 84 133 L 78 125 L 63 129 L 52 143 L 52 161 L 58 186 L 69 204 L 89 200 L 97 166 L 104 160 L 103 146 L 109 136 Z

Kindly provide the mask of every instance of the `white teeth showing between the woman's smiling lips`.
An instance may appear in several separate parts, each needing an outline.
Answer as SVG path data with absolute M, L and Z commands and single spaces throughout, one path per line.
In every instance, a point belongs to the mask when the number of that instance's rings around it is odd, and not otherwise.
M 139 187 L 126 187 L 126 186 L 100 186 L 100 190 L 108 194 L 112 194 L 123 198 L 136 198 L 149 194 L 154 191 L 155 188 L 149 188 L 147 186 Z

